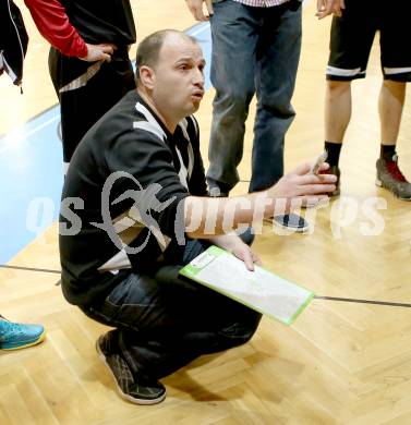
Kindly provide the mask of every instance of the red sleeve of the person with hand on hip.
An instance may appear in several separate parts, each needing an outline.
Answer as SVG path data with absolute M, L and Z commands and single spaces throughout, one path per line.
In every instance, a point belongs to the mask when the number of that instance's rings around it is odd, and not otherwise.
M 63 54 L 84 58 L 87 46 L 57 0 L 24 0 L 43 37 Z

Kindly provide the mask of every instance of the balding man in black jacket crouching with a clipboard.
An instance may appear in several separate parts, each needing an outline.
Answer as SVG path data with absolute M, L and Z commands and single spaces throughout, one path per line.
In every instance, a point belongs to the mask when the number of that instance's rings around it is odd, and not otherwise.
M 140 44 L 136 62 L 137 89 L 88 131 L 72 159 L 60 255 L 67 300 L 114 328 L 96 347 L 120 396 L 154 404 L 166 397 L 160 378 L 202 354 L 247 342 L 261 319 L 181 280 L 180 268 L 210 244 L 229 250 L 250 270 L 259 259 L 250 232 L 242 239 L 225 232 L 230 198 L 207 196 L 192 117 L 204 95 L 198 44 L 161 31 Z M 335 190 L 335 180 L 310 174 L 303 165 L 269 190 L 245 195 L 249 207 L 235 209 L 232 228 L 252 226 L 258 196 L 266 201 L 262 218 L 269 217 L 279 198 L 319 201 Z

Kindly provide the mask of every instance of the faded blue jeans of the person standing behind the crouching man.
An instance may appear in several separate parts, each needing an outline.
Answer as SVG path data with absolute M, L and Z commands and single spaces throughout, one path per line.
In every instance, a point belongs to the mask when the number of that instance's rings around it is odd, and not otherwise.
M 283 174 L 285 134 L 294 110 L 301 50 L 301 8 L 254 8 L 232 0 L 214 4 L 211 83 L 216 88 L 207 181 L 228 192 L 239 182 L 250 101 L 257 97 L 250 192 Z

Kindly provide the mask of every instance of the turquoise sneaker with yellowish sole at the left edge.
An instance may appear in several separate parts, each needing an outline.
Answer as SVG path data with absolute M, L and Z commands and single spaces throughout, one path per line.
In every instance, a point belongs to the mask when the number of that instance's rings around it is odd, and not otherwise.
M 0 350 L 19 350 L 41 342 L 46 337 L 41 325 L 15 324 L 0 316 Z

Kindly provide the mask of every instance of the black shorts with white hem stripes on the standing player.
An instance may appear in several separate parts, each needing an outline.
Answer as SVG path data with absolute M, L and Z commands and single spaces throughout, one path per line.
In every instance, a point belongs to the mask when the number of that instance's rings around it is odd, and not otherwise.
M 377 32 L 384 78 L 411 81 L 411 0 L 346 0 L 333 17 L 327 80 L 364 78 Z

